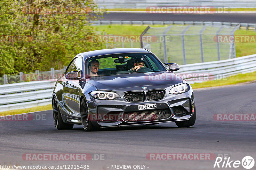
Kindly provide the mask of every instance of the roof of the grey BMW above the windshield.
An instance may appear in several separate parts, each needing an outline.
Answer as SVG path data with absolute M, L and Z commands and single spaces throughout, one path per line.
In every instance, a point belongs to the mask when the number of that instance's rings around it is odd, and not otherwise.
M 150 53 L 144 48 L 111 48 L 104 50 L 94 50 L 84 53 L 79 53 L 77 55 L 82 55 L 84 58 L 95 57 L 99 55 L 108 55 L 108 54 L 118 54 L 118 53 Z

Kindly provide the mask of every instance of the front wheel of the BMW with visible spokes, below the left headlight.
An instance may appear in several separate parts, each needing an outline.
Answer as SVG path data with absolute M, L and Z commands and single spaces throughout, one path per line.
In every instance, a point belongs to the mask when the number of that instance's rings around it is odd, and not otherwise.
M 81 122 L 85 131 L 98 131 L 100 128 L 93 126 L 91 120 L 89 119 L 88 107 L 85 99 L 82 99 L 81 107 Z

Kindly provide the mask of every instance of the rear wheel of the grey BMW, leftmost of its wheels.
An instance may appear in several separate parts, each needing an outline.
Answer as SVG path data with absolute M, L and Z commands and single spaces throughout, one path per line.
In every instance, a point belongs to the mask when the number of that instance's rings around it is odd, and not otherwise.
M 74 124 L 66 124 L 63 122 L 60 115 L 60 109 L 59 109 L 56 97 L 54 97 L 52 101 L 52 113 L 53 113 L 54 125 L 58 130 L 73 128 Z

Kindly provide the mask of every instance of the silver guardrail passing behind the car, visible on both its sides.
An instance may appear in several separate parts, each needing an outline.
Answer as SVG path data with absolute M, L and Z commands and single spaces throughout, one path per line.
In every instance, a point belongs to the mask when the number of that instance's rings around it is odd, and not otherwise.
M 180 65 L 180 70 L 175 74 L 193 84 L 253 71 L 256 71 L 256 54 L 228 60 Z M 0 111 L 51 104 L 55 82 L 56 80 L 31 81 L 0 85 Z

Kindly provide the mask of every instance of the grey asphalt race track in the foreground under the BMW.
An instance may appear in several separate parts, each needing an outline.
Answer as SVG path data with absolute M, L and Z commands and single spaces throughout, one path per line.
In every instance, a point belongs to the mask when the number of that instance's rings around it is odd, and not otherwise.
M 129 164 L 146 165 L 145 169 L 148 170 L 205 170 L 217 169 L 213 168 L 215 157 L 212 160 L 148 160 L 146 155 L 211 153 L 227 154 L 231 157 L 230 160 L 241 161 L 244 156 L 256 159 L 256 121 L 213 119 L 213 115 L 217 113 L 255 114 L 255 89 L 256 83 L 195 90 L 197 119 L 196 124 L 189 128 L 178 128 L 175 123 L 164 123 L 106 128 L 97 132 L 85 132 L 79 125 L 75 125 L 73 130 L 57 130 L 53 125 L 52 111 L 33 113 L 34 118 L 39 117 L 40 120 L 1 120 L 0 164 L 80 164 L 90 165 L 92 170 L 108 170 L 111 165 Z M 104 154 L 105 160 L 23 160 L 22 155 L 26 153 L 97 153 Z M 236 169 L 244 168 L 240 165 Z

